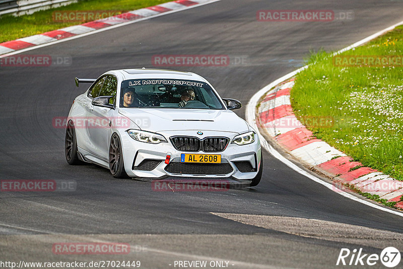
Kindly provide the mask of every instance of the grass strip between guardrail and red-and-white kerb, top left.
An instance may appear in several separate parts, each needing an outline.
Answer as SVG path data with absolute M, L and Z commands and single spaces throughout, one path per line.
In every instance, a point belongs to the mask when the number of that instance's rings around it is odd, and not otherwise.
M 113 11 L 116 15 L 170 1 L 172 0 L 82 0 L 65 7 L 38 11 L 32 15 L 3 15 L 0 17 L 0 43 L 93 21 L 55 22 L 52 17 L 54 11 Z

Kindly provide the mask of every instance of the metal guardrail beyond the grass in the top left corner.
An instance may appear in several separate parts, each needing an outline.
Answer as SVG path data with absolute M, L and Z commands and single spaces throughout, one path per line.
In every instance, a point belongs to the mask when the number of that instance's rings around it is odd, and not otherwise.
M 78 0 L 0 0 L 0 15 L 11 13 L 16 16 L 32 14 L 39 10 L 57 8 L 76 2 Z

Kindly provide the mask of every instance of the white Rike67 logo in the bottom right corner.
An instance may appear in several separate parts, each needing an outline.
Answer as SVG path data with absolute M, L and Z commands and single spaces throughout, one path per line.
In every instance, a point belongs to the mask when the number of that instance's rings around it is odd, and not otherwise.
M 336 265 L 375 265 L 378 262 L 386 267 L 395 267 L 400 262 L 400 251 L 395 247 L 386 247 L 381 254 L 362 254 L 362 248 L 350 251 L 348 248 L 342 248 L 339 253 Z

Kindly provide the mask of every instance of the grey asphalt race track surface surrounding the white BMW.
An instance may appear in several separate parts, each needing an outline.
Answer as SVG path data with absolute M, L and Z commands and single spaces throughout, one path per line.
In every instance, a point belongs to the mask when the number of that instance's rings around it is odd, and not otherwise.
M 169 68 L 207 78 L 222 97 L 243 103 L 236 113 L 244 117 L 250 97 L 301 66 L 309 50 L 346 47 L 401 21 L 402 8 L 397 0 L 222 0 L 25 52 L 71 56 L 72 64 L 0 68 L 0 179 L 71 180 L 77 189 L 1 192 L 0 259 L 140 260 L 142 268 L 224 260 L 231 268 L 329 268 L 337 267 L 341 248 L 402 250 L 401 217 L 328 190 L 267 152 L 256 187 L 153 191 L 150 182 L 114 179 L 95 165 L 68 165 L 64 129 L 52 126 L 88 87 L 76 88 L 74 77 L 153 68 L 156 54 L 246 59 L 229 66 Z M 258 22 L 258 10 L 352 10 L 355 18 Z M 58 242 L 127 242 L 132 251 L 56 255 L 52 244 Z M 378 261 L 371 267 L 384 266 Z

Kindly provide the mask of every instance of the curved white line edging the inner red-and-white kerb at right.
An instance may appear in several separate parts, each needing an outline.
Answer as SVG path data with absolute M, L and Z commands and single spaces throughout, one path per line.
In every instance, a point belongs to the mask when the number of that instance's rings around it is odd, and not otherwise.
M 366 37 L 366 38 L 364 38 L 364 39 L 362 39 L 362 40 L 360 40 L 360 41 L 358 41 L 358 42 L 356 42 L 356 43 L 354 43 L 354 44 L 352 44 L 352 45 L 350 45 L 350 46 L 348 46 L 348 47 L 345 47 L 345 48 L 343 48 L 343 49 L 341 49 L 341 50 L 339 50 L 339 51 L 333 53 L 333 55 L 336 55 L 336 54 L 342 53 L 342 52 L 344 52 L 344 51 L 346 51 L 346 50 L 349 50 L 349 49 L 358 47 L 358 46 L 360 46 L 360 45 L 362 45 L 362 44 L 364 44 L 364 43 L 370 41 L 371 39 L 374 39 L 375 37 L 378 37 L 378 36 L 384 34 L 385 32 L 392 30 L 392 29 L 395 28 L 396 26 L 399 26 L 399 25 L 402 25 L 402 24 L 403 24 L 403 21 L 401 21 L 401 22 L 399 22 L 399 23 L 396 23 L 396 24 L 394 24 L 394 25 L 392 25 L 392 26 L 390 26 L 390 27 L 388 27 L 388 28 L 386 28 L 386 29 L 384 29 L 384 30 L 382 30 L 382 31 L 379 31 L 379 32 L 377 32 L 377 33 L 375 33 L 375 34 L 373 34 L 373 35 L 370 35 L 370 36 L 368 36 L 368 37 Z M 320 178 L 318 178 L 318 177 L 316 177 L 316 176 L 314 176 L 314 175 L 311 175 L 310 173 L 308 173 L 308 172 L 305 171 L 304 169 L 302 169 L 302 168 L 298 167 L 297 165 L 295 165 L 294 163 L 292 163 L 292 162 L 291 162 L 290 160 L 288 160 L 287 158 L 283 157 L 283 155 L 281 155 L 277 150 L 275 150 L 275 149 L 274 149 L 270 144 L 268 144 L 268 142 L 263 138 L 263 136 L 262 136 L 261 133 L 259 132 L 259 129 L 258 129 L 257 124 L 256 124 L 256 114 L 255 114 L 255 110 L 256 110 L 257 102 L 259 101 L 260 97 L 263 96 L 266 92 L 268 92 L 271 88 L 273 88 L 273 87 L 276 86 L 277 84 L 279 84 L 279 83 L 281 83 L 281 82 L 283 82 L 283 81 L 285 81 L 285 80 L 291 79 L 291 78 L 294 77 L 297 73 L 301 72 L 302 70 L 306 69 L 307 67 L 308 67 L 308 65 L 305 65 L 305 66 L 303 66 L 302 68 L 297 69 L 296 71 L 293 71 L 293 72 L 291 72 L 291 73 L 289 73 L 289 74 L 287 74 L 287 75 L 281 77 L 280 79 L 275 80 L 275 81 L 272 82 L 271 84 L 266 85 L 265 87 L 263 87 L 262 89 L 260 89 L 257 93 L 255 93 L 255 94 L 252 96 L 252 98 L 250 98 L 249 103 L 246 105 L 246 121 L 256 130 L 256 132 L 257 132 L 257 134 L 258 134 L 258 136 L 259 136 L 259 138 L 260 138 L 261 145 L 263 146 L 263 148 L 264 148 L 266 151 L 268 151 L 270 154 L 272 154 L 274 157 L 276 157 L 277 159 L 279 159 L 281 162 L 283 162 L 285 165 L 287 165 L 288 167 L 290 167 L 290 168 L 293 169 L 294 171 L 296 171 L 296 172 L 300 173 L 301 175 L 304 175 L 304 176 L 308 177 L 309 179 L 312 179 L 313 181 L 315 181 L 315 182 L 317 182 L 317 183 L 319 183 L 319 184 L 325 186 L 326 188 L 328 188 L 328 189 L 334 191 L 335 186 L 333 186 L 332 184 L 327 183 L 327 182 L 321 180 Z M 367 205 L 367 206 L 369 206 L 369 207 L 372 207 L 372 208 L 375 208 L 375 209 L 379 209 L 379 210 L 382 210 L 382 211 L 384 211 L 384 212 L 388 212 L 388 213 L 391 213 L 391 214 L 394 214 L 394 215 L 403 217 L 403 213 L 400 213 L 400 212 L 397 212 L 397 211 L 394 211 L 394 210 L 390 210 L 390 209 L 388 209 L 388 208 L 381 207 L 381 206 L 379 206 L 379 205 L 377 205 L 377 204 L 373 204 L 373 203 L 371 203 L 370 201 L 363 200 L 363 199 L 361 199 L 361 198 L 359 198 L 359 197 L 356 197 L 356 196 L 354 196 L 354 195 L 352 195 L 352 194 L 350 194 L 350 193 L 348 193 L 348 192 L 345 192 L 345 191 L 342 191 L 342 190 L 338 190 L 338 191 L 335 191 L 335 192 L 337 192 L 337 193 L 339 193 L 340 195 L 343 195 L 343 196 L 345 196 L 345 197 L 347 197 L 347 198 L 350 198 L 350 199 L 352 199 L 352 200 L 358 201 L 359 203 L 364 204 L 364 205 Z

